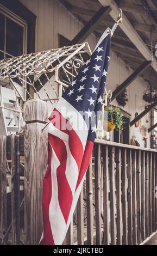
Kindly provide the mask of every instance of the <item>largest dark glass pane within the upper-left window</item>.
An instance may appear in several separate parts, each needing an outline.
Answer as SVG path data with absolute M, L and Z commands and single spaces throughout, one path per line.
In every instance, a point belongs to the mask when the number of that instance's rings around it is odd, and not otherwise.
M 12 56 L 23 53 L 23 27 L 7 18 L 6 20 L 6 52 Z

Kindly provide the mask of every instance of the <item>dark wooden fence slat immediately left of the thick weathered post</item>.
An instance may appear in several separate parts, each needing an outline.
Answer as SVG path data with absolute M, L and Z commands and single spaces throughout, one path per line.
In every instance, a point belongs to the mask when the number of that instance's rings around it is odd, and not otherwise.
M 20 245 L 20 143 L 11 136 L 11 230 L 12 245 Z

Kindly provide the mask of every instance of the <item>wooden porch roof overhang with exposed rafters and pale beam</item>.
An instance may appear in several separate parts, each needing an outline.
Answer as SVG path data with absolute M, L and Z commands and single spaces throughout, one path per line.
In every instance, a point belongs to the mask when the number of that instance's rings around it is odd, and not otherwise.
M 93 33 L 100 34 L 111 27 L 117 15 L 123 10 L 123 22 L 111 40 L 111 50 L 117 54 L 133 70 L 138 69 L 145 60 L 154 60 L 141 74 L 149 86 L 157 88 L 157 60 L 155 45 L 157 44 L 157 3 L 154 0 L 58 0 L 58 2 L 76 16 L 85 25 L 99 9 L 110 7 L 112 10 L 95 26 Z M 153 46 L 153 47 L 152 47 Z

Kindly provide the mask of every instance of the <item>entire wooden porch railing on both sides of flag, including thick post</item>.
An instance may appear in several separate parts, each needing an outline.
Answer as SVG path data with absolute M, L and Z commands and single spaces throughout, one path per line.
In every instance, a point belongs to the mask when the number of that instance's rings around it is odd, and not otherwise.
M 2 244 L 37 244 L 41 235 L 47 146 L 44 124 L 35 124 L 40 117 L 31 109 L 24 135 L 0 136 Z M 34 156 L 40 161 L 33 162 Z M 140 244 L 157 230 L 156 188 L 157 150 L 96 139 L 65 244 Z

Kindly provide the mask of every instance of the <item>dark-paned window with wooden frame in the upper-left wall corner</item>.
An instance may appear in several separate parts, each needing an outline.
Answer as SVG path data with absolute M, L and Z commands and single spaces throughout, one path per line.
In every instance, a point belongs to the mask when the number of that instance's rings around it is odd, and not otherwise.
M 27 23 L 0 5 L 0 59 L 27 52 Z

